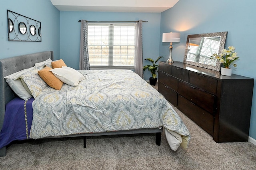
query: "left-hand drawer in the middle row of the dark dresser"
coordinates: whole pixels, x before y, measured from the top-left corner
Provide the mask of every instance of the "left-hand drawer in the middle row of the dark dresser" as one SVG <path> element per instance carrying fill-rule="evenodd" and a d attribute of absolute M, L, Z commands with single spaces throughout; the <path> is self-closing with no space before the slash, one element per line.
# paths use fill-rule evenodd
<path fill-rule="evenodd" d="M 158 82 L 164 83 L 174 91 L 178 91 L 178 79 L 162 71 L 158 72 Z"/>

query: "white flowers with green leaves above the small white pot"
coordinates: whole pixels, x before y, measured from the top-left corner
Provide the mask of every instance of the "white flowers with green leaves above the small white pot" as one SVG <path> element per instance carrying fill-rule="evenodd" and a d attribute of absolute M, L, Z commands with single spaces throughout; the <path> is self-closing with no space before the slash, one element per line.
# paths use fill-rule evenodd
<path fill-rule="evenodd" d="M 217 55 L 217 53 L 212 54 L 212 57 L 215 57 L 220 63 L 223 63 L 225 68 L 229 68 L 229 65 L 239 58 L 233 46 L 229 46 L 228 50 L 222 49 L 219 55 Z M 233 65 L 234 67 L 237 66 L 235 63 L 233 63 Z"/>

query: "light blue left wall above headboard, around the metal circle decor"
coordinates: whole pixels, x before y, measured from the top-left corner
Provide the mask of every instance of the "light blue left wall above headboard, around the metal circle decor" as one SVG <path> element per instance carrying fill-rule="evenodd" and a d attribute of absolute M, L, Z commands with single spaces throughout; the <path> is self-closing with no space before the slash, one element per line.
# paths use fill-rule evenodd
<path fill-rule="evenodd" d="M 42 42 L 8 41 L 7 10 L 41 22 Z M 60 11 L 50 0 L 0 0 L 0 59 L 40 51 L 60 58 Z"/>

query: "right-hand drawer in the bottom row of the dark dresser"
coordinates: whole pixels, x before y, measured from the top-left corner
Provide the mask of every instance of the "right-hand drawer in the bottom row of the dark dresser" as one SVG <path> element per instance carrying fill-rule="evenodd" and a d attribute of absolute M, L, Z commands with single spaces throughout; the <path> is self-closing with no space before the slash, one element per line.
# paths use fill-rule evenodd
<path fill-rule="evenodd" d="M 184 97 L 178 95 L 177 108 L 187 115 L 198 126 L 203 128 L 210 135 L 213 135 L 214 116 L 206 112 L 204 109 L 194 105 Z"/>

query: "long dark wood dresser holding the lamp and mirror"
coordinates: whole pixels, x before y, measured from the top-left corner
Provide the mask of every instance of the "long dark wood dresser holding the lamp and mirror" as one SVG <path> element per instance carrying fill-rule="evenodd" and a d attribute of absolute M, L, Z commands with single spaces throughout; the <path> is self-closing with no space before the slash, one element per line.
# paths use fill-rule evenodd
<path fill-rule="evenodd" d="M 253 85 L 249 77 L 159 62 L 158 91 L 215 142 L 248 141 Z"/>

